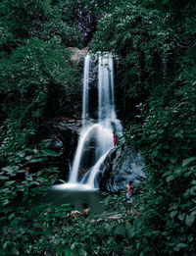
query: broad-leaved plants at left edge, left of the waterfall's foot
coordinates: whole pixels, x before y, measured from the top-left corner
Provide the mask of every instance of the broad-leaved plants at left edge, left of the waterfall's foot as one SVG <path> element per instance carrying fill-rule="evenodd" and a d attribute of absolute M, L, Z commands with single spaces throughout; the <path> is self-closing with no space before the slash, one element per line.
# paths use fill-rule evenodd
<path fill-rule="evenodd" d="M 49 149 L 25 148 L 9 155 L 9 166 L 3 167 L 0 173 L 3 207 L 12 204 L 21 192 L 23 202 L 30 201 L 32 197 L 42 194 L 55 182 L 55 174 L 59 171 L 54 167 L 43 168 L 38 172 L 33 172 L 32 167 L 30 174 L 25 177 L 25 167 L 34 163 L 42 164 L 49 156 L 55 157 L 58 154 Z M 7 211 L 6 209 L 5 212 Z"/>

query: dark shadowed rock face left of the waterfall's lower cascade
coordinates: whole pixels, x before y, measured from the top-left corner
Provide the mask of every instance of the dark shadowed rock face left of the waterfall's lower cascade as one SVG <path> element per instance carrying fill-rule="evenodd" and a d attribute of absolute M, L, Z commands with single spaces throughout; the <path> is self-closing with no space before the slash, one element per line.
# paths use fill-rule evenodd
<path fill-rule="evenodd" d="M 80 120 L 59 118 L 43 121 L 36 133 L 36 143 L 49 139 L 50 149 L 59 153 L 59 157 L 49 158 L 47 166 L 58 167 L 61 170 L 60 179 L 68 179 L 80 127 Z"/>

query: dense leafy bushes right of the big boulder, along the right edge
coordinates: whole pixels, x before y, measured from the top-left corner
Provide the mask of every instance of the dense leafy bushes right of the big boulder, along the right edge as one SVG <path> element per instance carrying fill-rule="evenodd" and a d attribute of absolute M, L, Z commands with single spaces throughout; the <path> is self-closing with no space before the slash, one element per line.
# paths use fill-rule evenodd
<path fill-rule="evenodd" d="M 150 231 L 148 244 L 163 255 L 195 251 L 195 95 L 195 87 L 186 84 L 164 109 L 151 99 L 149 111 L 141 110 L 144 123 L 125 132 L 141 150 L 148 176 L 138 200 L 146 220 L 140 236 Z"/>

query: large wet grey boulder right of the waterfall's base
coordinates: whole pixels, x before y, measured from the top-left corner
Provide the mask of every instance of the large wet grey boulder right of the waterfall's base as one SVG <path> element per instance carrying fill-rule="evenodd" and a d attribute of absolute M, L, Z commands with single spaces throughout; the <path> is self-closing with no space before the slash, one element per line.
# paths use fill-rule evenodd
<path fill-rule="evenodd" d="M 117 192 L 123 190 L 129 180 L 136 185 L 139 180 L 145 178 L 143 167 L 140 154 L 133 148 L 123 145 L 121 148 L 112 149 L 100 168 L 100 189 Z"/>

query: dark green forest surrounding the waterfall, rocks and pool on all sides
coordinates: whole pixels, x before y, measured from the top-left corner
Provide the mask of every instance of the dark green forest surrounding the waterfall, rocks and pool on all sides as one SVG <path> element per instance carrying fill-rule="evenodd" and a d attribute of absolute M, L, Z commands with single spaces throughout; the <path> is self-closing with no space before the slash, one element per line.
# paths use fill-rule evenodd
<path fill-rule="evenodd" d="M 1 255 L 196 255 L 195 1 L 2 0 L 0 16 Z M 118 56 L 124 138 L 147 174 L 140 217 L 69 226 L 69 206 L 50 206 L 37 210 L 44 229 L 30 230 L 30 212 L 13 204 L 30 203 L 59 172 L 23 180 L 27 165 L 57 155 L 33 136 L 43 119 L 79 118 L 82 65 L 69 47 L 86 46 Z M 109 198 L 123 211 L 123 195 Z"/>

